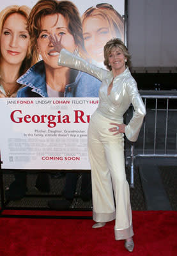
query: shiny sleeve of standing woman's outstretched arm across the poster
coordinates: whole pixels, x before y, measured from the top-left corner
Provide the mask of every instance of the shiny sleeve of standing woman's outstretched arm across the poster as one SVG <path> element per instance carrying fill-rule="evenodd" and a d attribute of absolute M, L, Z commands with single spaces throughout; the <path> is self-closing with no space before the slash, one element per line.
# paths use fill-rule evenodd
<path fill-rule="evenodd" d="M 109 73 L 109 71 L 88 63 L 81 57 L 75 56 L 71 52 L 66 51 L 66 49 L 62 49 L 59 53 L 58 65 L 81 70 L 90 74 L 91 76 L 96 77 L 100 81 L 102 81 Z"/>

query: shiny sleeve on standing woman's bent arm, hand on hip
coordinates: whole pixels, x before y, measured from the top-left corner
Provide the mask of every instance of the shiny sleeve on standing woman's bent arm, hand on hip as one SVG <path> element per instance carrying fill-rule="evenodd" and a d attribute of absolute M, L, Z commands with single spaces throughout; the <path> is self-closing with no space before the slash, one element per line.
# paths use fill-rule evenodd
<path fill-rule="evenodd" d="M 137 84 L 134 80 L 127 83 L 126 92 L 134 107 L 134 114 L 128 125 L 125 127 L 125 135 L 127 136 L 128 140 L 136 141 L 141 129 L 143 118 L 146 115 L 146 109 L 137 90 Z"/>

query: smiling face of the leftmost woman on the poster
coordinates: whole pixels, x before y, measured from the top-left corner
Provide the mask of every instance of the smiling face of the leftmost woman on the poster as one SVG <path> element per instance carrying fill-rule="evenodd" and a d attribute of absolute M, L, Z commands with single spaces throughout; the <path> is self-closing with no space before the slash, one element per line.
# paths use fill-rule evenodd
<path fill-rule="evenodd" d="M 4 22 L 0 38 L 1 62 L 22 64 L 29 45 L 29 34 L 26 30 L 26 18 L 13 13 Z"/>

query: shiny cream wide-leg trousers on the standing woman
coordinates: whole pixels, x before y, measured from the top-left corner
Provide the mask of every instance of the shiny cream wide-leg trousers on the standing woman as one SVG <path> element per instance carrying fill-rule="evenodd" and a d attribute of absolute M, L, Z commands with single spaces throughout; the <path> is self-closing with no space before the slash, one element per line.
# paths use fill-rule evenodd
<path fill-rule="evenodd" d="M 107 222 L 115 219 L 115 239 L 120 240 L 132 237 L 134 232 L 125 173 L 124 134 L 112 135 L 109 132 L 111 122 L 96 110 L 88 127 L 93 220 Z"/>

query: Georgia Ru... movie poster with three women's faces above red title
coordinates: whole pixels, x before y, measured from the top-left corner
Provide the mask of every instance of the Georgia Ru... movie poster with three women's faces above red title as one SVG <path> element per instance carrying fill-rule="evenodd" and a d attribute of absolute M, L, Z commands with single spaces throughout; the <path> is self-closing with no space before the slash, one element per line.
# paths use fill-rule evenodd
<path fill-rule="evenodd" d="M 87 129 L 101 82 L 60 67 L 49 36 L 61 38 L 68 52 L 106 69 L 105 43 L 125 38 L 125 1 L 58 1 L 58 7 L 50 2 L 1 3 L 2 168 L 90 169 Z M 22 5 L 16 16 L 14 4 Z"/>

